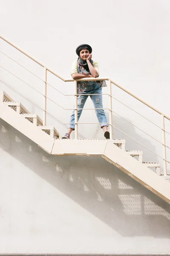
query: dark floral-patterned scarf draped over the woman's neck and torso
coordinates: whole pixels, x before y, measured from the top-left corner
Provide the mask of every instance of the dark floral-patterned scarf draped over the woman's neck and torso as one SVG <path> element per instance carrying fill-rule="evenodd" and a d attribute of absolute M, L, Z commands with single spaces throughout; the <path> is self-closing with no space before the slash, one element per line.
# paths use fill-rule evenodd
<path fill-rule="evenodd" d="M 90 60 L 90 63 L 93 65 L 93 61 Z M 86 61 L 83 61 L 81 58 L 77 59 L 77 69 L 79 74 L 83 75 L 91 75 L 90 70 L 88 68 L 88 64 Z M 88 71 L 89 70 L 89 71 Z M 106 82 L 105 81 L 90 81 L 90 83 L 98 84 L 99 87 L 106 87 Z M 88 86 L 89 82 L 88 81 L 78 81 L 77 82 L 77 94 L 82 94 L 86 87 Z"/>

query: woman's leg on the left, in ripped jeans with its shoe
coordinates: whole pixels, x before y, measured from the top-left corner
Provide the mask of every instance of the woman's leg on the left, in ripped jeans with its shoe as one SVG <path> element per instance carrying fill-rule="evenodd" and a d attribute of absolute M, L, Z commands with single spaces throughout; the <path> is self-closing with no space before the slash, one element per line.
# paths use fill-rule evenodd
<path fill-rule="evenodd" d="M 83 94 L 79 95 L 77 98 L 77 119 L 78 120 L 81 116 L 81 113 L 82 113 L 82 110 L 84 108 L 87 98 L 88 98 L 88 95 L 83 95 Z M 75 128 L 74 122 L 75 121 L 74 121 L 74 111 L 73 111 L 73 113 L 71 114 L 71 117 L 70 117 L 70 124 L 68 125 L 67 133 L 65 134 L 64 137 L 62 137 L 62 139 L 70 138 L 70 134 L 72 131 L 74 131 L 74 128 Z"/>

